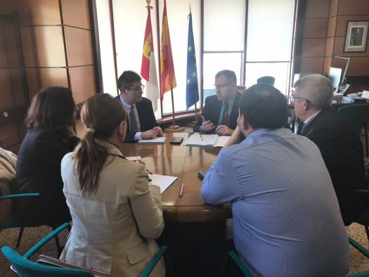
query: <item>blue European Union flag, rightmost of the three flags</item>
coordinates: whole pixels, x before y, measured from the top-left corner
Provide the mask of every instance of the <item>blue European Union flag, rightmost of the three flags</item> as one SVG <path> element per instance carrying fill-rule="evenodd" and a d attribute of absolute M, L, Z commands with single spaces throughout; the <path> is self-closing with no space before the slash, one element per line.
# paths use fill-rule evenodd
<path fill-rule="evenodd" d="M 193 42 L 192 13 L 188 15 L 188 44 L 187 44 L 187 79 L 186 79 L 186 107 L 195 105 L 199 101 L 198 70 L 196 67 L 195 44 Z"/>

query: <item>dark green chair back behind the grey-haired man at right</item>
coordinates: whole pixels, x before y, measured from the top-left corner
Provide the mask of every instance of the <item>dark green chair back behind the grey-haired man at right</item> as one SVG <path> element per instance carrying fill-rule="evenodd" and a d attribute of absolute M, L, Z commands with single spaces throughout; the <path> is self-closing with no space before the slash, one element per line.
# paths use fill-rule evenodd
<path fill-rule="evenodd" d="M 366 104 L 353 104 L 341 107 L 337 110 L 339 115 L 342 115 L 347 122 L 354 128 L 354 131 L 358 136 L 361 134 L 361 128 L 365 124 L 365 148 L 366 157 L 368 157 L 368 118 L 369 118 L 369 105 Z"/>

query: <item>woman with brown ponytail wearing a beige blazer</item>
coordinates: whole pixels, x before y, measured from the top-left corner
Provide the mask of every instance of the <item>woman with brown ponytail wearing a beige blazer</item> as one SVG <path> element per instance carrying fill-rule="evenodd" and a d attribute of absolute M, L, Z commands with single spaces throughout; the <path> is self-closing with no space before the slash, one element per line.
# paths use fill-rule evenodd
<path fill-rule="evenodd" d="M 164 228 L 160 188 L 119 150 L 126 117 L 109 94 L 89 98 L 81 112 L 86 135 L 61 164 L 73 226 L 60 258 L 113 276 L 139 276 Z M 164 275 L 160 261 L 150 276 Z"/>

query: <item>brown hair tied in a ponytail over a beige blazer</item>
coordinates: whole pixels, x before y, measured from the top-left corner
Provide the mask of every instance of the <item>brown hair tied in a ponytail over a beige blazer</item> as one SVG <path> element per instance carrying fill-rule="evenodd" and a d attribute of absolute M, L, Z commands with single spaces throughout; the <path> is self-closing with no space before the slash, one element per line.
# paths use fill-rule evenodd
<path fill-rule="evenodd" d="M 126 112 L 110 94 L 96 94 L 84 103 L 81 118 L 90 129 L 80 141 L 74 157 L 81 195 L 84 195 L 85 192 L 96 192 L 98 176 L 108 157 L 107 150 L 96 143 L 96 139 L 109 139 L 119 124 L 126 120 Z"/>

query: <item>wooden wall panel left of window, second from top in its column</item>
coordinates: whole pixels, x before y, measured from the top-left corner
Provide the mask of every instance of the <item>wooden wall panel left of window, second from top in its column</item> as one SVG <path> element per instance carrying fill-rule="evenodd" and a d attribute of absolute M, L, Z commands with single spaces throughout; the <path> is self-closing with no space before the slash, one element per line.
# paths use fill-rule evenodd
<path fill-rule="evenodd" d="M 92 65 L 92 37 L 89 30 L 65 27 L 65 43 L 69 66 Z"/>

